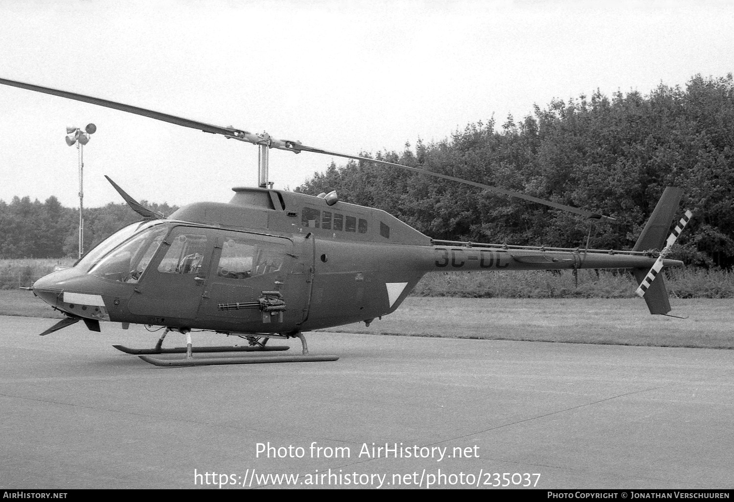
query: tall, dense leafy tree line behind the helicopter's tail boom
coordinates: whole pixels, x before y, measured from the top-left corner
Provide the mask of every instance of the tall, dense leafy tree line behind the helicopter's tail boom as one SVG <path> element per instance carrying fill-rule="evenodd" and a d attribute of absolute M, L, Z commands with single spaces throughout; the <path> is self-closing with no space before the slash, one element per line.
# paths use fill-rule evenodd
<path fill-rule="evenodd" d="M 734 265 L 734 82 L 694 76 L 685 87 L 649 94 L 597 90 L 555 99 L 497 125 L 471 123 L 426 145 L 421 139 L 384 159 L 523 192 L 617 218 L 574 214 L 427 175 L 365 161 L 332 163 L 296 192 L 335 189 L 340 200 L 394 214 L 435 239 L 628 250 L 666 186 L 684 190 L 694 218 L 677 258 Z"/>

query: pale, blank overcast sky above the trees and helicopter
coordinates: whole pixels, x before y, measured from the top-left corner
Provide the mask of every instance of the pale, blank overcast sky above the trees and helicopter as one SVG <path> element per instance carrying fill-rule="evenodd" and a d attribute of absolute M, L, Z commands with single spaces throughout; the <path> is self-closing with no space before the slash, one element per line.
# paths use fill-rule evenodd
<path fill-rule="evenodd" d="M 0 1 L 0 77 L 358 154 L 440 142 L 591 95 L 734 62 L 729 1 Z M 147 117 L 0 86 L 0 200 L 79 206 L 227 202 L 257 186 L 258 148 Z M 294 189 L 334 160 L 270 151 Z M 443 181 L 437 181 L 437 183 Z"/>

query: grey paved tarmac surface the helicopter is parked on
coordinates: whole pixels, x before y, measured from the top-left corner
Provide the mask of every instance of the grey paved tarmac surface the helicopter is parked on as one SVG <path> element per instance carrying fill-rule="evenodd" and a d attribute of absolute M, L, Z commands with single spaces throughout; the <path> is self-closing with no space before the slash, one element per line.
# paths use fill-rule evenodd
<path fill-rule="evenodd" d="M 54 322 L 0 317 L 0 488 L 734 487 L 728 350 L 315 332 L 338 361 L 159 368 L 112 348 L 158 333 Z"/>

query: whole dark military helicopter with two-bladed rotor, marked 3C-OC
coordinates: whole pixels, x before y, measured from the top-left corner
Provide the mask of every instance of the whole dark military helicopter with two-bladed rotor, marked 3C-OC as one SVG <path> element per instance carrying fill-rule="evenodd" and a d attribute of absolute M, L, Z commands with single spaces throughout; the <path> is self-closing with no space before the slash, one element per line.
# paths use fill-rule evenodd
<path fill-rule="evenodd" d="M 587 218 L 613 218 L 417 167 L 275 139 L 266 133 L 253 134 L 18 81 L 0 79 L 0 84 L 200 129 L 259 148 L 257 188 L 234 188 L 229 203 L 192 203 L 168 217 L 143 207 L 107 178 L 142 221 L 109 236 L 72 268 L 32 285 L 35 295 L 65 315 L 40 335 L 78 321 L 92 331 L 101 330 L 100 321 L 119 322 L 124 329 L 129 324 L 157 326 L 164 331 L 152 349 L 115 347 L 161 366 L 336 360 L 332 355 L 308 354 L 302 332 L 358 321 L 369 325 L 396 310 L 426 272 L 461 270 L 632 269 L 640 283 L 637 293 L 650 313 L 669 315 L 671 310 L 664 277 L 658 272 L 665 266 L 683 265 L 665 258 L 691 218 L 686 211 L 666 239 L 681 189 L 665 189 L 631 251 L 441 241 L 385 211 L 341 202 L 335 192 L 313 197 L 274 189 L 268 181 L 269 150 L 371 161 Z M 248 344 L 195 348 L 192 330 L 236 335 Z M 162 343 L 169 332 L 186 335 L 186 347 L 164 349 Z M 288 349 L 266 345 L 269 338 L 299 338 L 302 354 L 193 357 L 195 352 Z M 171 352 L 186 352 L 186 357 L 150 357 Z"/>

